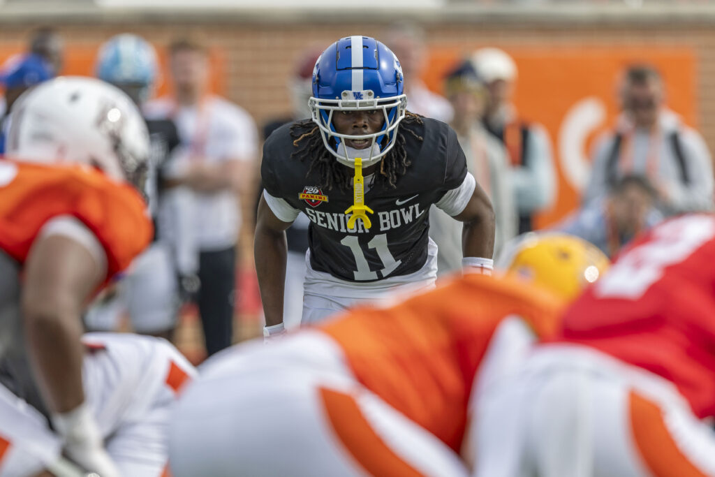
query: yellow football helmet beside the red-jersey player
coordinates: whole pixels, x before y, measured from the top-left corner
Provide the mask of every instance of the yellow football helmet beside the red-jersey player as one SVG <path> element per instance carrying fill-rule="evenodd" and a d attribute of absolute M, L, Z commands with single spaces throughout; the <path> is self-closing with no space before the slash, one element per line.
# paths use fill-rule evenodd
<path fill-rule="evenodd" d="M 608 257 L 591 242 L 560 232 L 520 235 L 507 243 L 496 264 L 502 272 L 546 287 L 568 301 L 610 266 Z"/>

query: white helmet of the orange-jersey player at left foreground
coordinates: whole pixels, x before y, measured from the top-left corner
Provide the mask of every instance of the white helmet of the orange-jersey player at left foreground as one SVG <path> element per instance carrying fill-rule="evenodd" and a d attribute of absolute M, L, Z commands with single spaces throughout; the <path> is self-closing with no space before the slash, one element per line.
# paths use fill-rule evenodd
<path fill-rule="evenodd" d="M 24 93 L 10 120 L 7 157 L 87 164 L 142 190 L 149 134 L 142 114 L 117 87 L 89 77 L 58 77 Z"/>

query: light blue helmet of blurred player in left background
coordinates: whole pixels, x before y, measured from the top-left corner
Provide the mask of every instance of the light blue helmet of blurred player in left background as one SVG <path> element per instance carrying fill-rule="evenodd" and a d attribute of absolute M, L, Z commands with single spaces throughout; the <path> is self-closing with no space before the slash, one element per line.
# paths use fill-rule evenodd
<path fill-rule="evenodd" d="M 149 99 L 157 80 L 157 64 L 157 52 L 151 44 L 125 33 L 112 36 L 99 48 L 96 74 L 99 79 L 124 89 L 141 104 Z"/>

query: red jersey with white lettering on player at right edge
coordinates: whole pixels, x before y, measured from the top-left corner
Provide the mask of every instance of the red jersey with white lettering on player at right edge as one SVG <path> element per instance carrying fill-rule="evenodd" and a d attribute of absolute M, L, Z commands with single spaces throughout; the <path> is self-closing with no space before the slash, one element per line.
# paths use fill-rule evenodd
<path fill-rule="evenodd" d="M 684 215 L 628 247 L 568 309 L 559 341 L 670 380 L 715 415 L 715 215 Z"/>

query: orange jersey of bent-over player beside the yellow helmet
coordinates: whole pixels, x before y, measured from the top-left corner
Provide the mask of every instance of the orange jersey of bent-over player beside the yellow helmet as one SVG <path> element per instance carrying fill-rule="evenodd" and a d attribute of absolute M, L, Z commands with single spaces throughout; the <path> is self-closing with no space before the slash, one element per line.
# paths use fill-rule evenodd
<path fill-rule="evenodd" d="M 501 320 L 518 315 L 551 337 L 562 308 L 516 278 L 468 275 L 320 329 L 340 343 L 360 383 L 459 452 L 473 381 Z"/>

